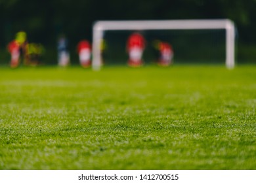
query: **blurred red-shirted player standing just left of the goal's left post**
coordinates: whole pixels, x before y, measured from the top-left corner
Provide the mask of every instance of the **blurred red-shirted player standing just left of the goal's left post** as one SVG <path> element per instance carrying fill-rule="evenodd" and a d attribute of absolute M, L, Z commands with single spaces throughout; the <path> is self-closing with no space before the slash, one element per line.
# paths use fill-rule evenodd
<path fill-rule="evenodd" d="M 82 40 L 77 45 L 79 62 L 82 67 L 91 66 L 91 44 L 87 40 Z"/>

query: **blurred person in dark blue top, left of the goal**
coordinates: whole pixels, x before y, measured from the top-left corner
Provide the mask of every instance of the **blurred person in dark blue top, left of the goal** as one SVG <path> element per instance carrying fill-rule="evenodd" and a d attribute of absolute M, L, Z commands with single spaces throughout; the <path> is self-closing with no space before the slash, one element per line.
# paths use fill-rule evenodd
<path fill-rule="evenodd" d="M 58 39 L 58 65 L 66 67 L 70 64 L 70 53 L 68 52 L 68 40 L 64 35 Z"/>

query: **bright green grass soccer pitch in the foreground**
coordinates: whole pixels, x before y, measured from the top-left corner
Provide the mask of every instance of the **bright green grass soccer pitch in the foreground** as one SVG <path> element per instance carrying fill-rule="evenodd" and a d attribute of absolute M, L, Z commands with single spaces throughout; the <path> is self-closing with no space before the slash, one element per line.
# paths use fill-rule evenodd
<path fill-rule="evenodd" d="M 0 169 L 256 169 L 256 67 L 0 68 Z"/>

